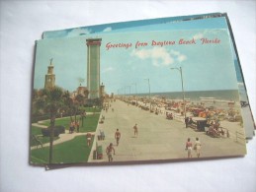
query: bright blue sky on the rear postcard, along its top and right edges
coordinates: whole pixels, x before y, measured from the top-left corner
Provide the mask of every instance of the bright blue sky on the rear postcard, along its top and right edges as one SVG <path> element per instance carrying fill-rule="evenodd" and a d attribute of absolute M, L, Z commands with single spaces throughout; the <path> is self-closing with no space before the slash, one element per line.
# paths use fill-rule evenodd
<path fill-rule="evenodd" d="M 225 17 L 205 18 L 204 20 L 188 20 L 192 18 L 202 18 L 202 16 L 215 15 L 204 14 L 194 16 L 180 16 L 169 18 L 158 18 L 150 20 L 130 21 L 123 23 L 104 24 L 98 26 L 80 27 L 74 29 L 43 32 L 43 38 L 56 37 L 73 37 L 85 35 L 88 33 L 113 33 L 113 32 L 145 32 L 145 31 L 177 31 L 177 30 L 199 30 L 199 29 L 226 29 L 228 25 Z M 183 21 L 183 22 L 180 22 Z M 241 78 L 241 70 L 236 58 L 234 48 L 232 46 L 234 65 L 236 69 L 237 82 L 239 87 L 244 87 L 243 79 Z"/>

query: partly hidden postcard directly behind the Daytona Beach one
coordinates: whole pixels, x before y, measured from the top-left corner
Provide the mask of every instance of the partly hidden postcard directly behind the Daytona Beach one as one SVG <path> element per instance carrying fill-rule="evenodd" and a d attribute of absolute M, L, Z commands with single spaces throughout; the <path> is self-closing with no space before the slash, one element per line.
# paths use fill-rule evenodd
<path fill-rule="evenodd" d="M 244 118 L 245 135 L 247 139 L 254 136 L 255 123 L 253 120 L 245 83 L 241 71 L 238 53 L 235 47 L 231 26 L 225 13 L 211 13 L 193 16 L 179 16 L 158 18 L 151 20 L 131 21 L 124 23 L 113 23 L 98 26 L 81 27 L 62 31 L 43 32 L 43 38 L 72 37 L 88 33 L 104 32 L 148 32 L 148 31 L 171 31 L 171 30 L 204 30 L 204 29 L 226 29 L 230 33 L 232 41 L 232 52 L 239 88 L 242 116 Z"/>

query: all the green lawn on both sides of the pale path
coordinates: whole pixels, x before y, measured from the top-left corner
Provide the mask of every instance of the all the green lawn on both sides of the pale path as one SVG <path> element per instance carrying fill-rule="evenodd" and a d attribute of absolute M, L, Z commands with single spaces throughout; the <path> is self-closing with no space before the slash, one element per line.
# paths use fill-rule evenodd
<path fill-rule="evenodd" d="M 100 114 L 87 115 L 84 119 L 84 126 L 80 122 L 80 132 L 95 132 Z M 63 125 L 66 130 L 69 130 L 69 117 L 56 119 L 55 125 Z M 49 126 L 49 120 L 43 123 Z M 40 129 L 40 128 L 39 128 Z M 32 134 L 42 134 L 37 127 L 32 127 Z M 94 139 L 94 138 L 93 138 Z M 93 143 L 92 139 L 92 143 Z M 89 158 L 91 146 L 87 146 L 86 136 L 77 136 L 71 141 L 67 141 L 53 146 L 53 160 L 52 163 L 72 163 L 72 162 L 86 162 Z M 47 163 L 49 148 L 39 148 L 31 151 L 32 163 Z"/>

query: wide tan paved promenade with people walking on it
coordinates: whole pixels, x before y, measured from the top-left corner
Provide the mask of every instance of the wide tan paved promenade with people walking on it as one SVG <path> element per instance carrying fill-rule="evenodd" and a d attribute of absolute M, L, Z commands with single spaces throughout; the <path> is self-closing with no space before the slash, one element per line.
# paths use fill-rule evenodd
<path fill-rule="evenodd" d="M 235 142 L 235 131 L 242 132 L 242 128 L 237 123 L 221 122 L 223 127 L 229 129 L 231 138 L 212 138 L 205 132 L 185 128 L 181 121 L 167 120 L 164 114 L 155 115 L 121 100 L 111 104 L 114 112 L 112 110 L 102 111 L 102 115 L 105 115 L 105 122 L 98 125 L 95 133 L 99 135 L 102 130 L 106 138 L 104 141 L 97 141 L 97 136 L 95 137 L 88 160 L 90 162 L 108 161 L 105 150 L 110 143 L 115 144 L 114 161 L 186 159 L 185 143 L 188 137 L 192 139 L 192 142 L 195 142 L 196 137 L 200 138 L 204 158 L 245 154 L 244 142 Z M 134 137 L 132 129 L 135 123 L 138 125 L 137 137 Z M 115 141 L 117 128 L 122 133 L 119 146 L 116 146 Z M 93 160 L 96 142 L 103 146 L 103 160 Z M 195 152 L 193 153 L 196 157 Z"/>

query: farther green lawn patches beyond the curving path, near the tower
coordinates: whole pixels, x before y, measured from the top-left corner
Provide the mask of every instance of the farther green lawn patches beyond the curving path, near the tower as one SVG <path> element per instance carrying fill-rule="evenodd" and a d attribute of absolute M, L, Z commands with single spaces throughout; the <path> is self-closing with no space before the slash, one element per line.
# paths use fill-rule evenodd
<path fill-rule="evenodd" d="M 90 114 L 87 115 L 86 118 L 84 118 L 84 123 L 82 126 L 82 122 L 80 122 L 80 131 L 81 133 L 84 132 L 94 132 L 97 128 L 97 124 L 100 118 L 99 113 Z M 77 119 L 80 119 L 79 115 L 77 116 Z M 70 124 L 70 118 L 69 117 L 63 117 L 61 119 L 55 120 L 55 125 L 62 125 L 65 127 L 66 130 L 69 130 L 69 124 Z M 43 125 L 49 126 L 49 120 L 46 120 L 43 122 Z"/>

